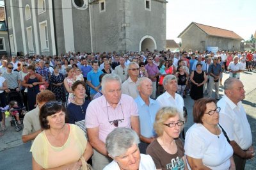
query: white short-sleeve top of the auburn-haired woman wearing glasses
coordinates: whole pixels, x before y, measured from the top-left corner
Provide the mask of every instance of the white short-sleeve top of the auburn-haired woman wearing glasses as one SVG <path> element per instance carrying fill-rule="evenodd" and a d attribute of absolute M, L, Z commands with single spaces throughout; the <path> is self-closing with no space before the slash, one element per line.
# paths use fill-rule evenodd
<path fill-rule="evenodd" d="M 202 158 L 202 162 L 210 169 L 228 169 L 232 146 L 227 142 L 223 132 L 215 135 L 209 132 L 201 123 L 192 125 L 185 138 L 185 155 L 192 158 Z M 190 169 L 189 165 L 188 168 Z"/>

